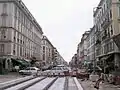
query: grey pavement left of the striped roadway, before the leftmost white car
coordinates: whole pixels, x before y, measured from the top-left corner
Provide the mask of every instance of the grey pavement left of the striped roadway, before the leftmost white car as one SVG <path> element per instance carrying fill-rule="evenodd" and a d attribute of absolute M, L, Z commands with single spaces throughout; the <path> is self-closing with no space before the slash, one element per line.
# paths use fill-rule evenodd
<path fill-rule="evenodd" d="M 10 80 L 14 80 L 14 79 L 18 79 L 18 78 L 21 78 L 21 77 L 23 77 L 23 76 L 19 75 L 19 73 L 10 72 L 9 74 L 6 74 L 6 75 L 0 75 L 0 83 L 10 81 Z"/>

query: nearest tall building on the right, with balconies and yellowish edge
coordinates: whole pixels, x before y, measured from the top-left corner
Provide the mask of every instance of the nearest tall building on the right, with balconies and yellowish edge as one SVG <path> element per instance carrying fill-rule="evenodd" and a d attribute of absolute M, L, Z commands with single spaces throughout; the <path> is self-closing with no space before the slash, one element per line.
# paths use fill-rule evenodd
<path fill-rule="evenodd" d="M 101 0 L 94 11 L 96 57 L 101 67 L 120 67 L 120 51 L 113 36 L 120 33 L 120 0 Z M 114 67 L 113 67 L 114 66 Z"/>

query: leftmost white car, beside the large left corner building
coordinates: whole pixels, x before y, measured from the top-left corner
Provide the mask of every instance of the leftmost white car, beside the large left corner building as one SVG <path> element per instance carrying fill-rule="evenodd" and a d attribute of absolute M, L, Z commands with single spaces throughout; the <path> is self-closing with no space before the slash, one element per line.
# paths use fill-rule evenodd
<path fill-rule="evenodd" d="M 39 68 L 37 67 L 27 67 L 24 70 L 20 70 L 19 74 L 21 75 L 37 75 L 39 71 Z"/>

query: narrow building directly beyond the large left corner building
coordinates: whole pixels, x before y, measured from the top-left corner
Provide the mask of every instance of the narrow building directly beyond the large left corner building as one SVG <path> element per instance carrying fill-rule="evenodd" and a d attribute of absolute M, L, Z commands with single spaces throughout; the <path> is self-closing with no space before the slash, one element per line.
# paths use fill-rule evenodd
<path fill-rule="evenodd" d="M 48 66 L 53 64 L 54 46 L 46 36 L 42 38 L 42 65 Z"/>

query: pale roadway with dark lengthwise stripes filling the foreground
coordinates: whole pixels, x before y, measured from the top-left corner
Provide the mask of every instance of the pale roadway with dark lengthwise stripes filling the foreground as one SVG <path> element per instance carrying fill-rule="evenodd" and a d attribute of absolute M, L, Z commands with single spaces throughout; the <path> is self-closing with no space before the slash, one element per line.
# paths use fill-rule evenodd
<path fill-rule="evenodd" d="M 25 77 L 24 77 L 25 78 Z M 21 78 L 20 78 L 21 79 Z M 18 80 L 18 79 L 17 79 Z M 13 80 L 12 80 L 13 81 Z M 7 82 L 0 83 L 4 90 L 83 90 L 75 77 L 36 77 L 30 80 L 17 82 L 12 85 Z M 20 81 L 20 80 L 19 80 Z M 14 81 L 15 82 L 15 81 Z M 4 84 L 8 84 L 5 87 Z"/>

